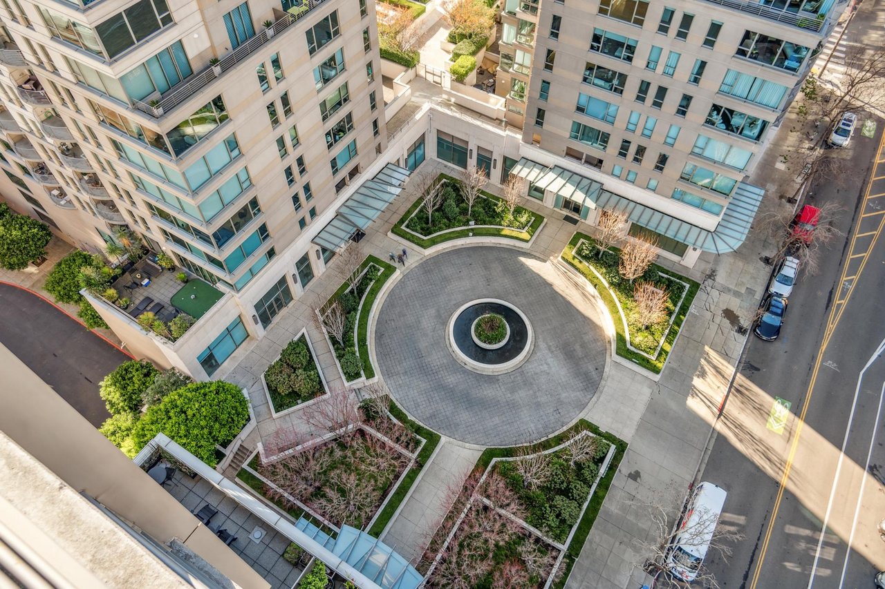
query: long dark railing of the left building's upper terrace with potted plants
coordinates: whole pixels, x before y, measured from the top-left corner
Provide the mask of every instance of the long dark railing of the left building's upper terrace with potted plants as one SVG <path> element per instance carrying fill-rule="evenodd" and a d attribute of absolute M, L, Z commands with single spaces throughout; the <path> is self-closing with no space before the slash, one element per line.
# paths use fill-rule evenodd
<path fill-rule="evenodd" d="M 221 57 L 218 65 L 215 67 L 221 68 L 221 74 L 224 75 L 230 69 L 233 69 L 236 65 L 242 62 L 247 57 L 258 50 L 260 47 L 266 44 L 268 40 L 277 34 L 281 34 L 283 31 L 294 25 L 298 20 L 303 19 L 305 15 L 309 14 L 314 8 L 323 4 L 326 0 L 308 0 L 307 1 L 307 10 L 303 12 L 299 12 L 298 14 L 291 14 L 287 12 L 281 19 L 277 20 L 273 23 L 269 30 L 273 31 L 273 34 L 268 35 L 268 30 L 264 30 L 256 34 L 249 41 L 242 43 L 235 50 L 228 53 L 225 57 Z M 204 87 L 211 84 L 214 80 L 216 80 L 219 76 L 215 74 L 213 71 L 212 65 L 205 68 L 202 72 L 196 73 L 194 77 L 190 80 L 182 82 L 178 86 L 174 86 L 170 88 L 168 92 L 165 93 L 164 96 L 159 100 L 157 106 L 151 106 L 147 103 L 142 103 L 140 100 L 135 101 L 135 108 L 139 111 L 146 112 L 151 117 L 159 119 L 166 112 L 172 111 L 179 104 L 189 100 L 191 96 L 196 96 L 197 93 Z"/>

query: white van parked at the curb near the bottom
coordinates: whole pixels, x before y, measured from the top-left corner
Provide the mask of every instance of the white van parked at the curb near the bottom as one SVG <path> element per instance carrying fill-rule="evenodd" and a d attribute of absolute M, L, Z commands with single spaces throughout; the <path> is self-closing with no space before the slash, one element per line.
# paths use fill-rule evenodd
<path fill-rule="evenodd" d="M 667 563 L 670 570 L 685 581 L 693 581 L 704 562 L 713 531 L 719 523 L 726 492 L 712 483 L 701 483 L 695 488 L 681 523 L 673 533 Z"/>

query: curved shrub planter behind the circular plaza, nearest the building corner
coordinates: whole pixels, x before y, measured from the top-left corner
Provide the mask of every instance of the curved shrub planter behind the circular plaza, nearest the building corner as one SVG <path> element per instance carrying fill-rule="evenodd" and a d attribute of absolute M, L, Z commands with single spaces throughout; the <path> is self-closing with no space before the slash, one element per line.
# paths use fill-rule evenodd
<path fill-rule="evenodd" d="M 471 216 L 467 217 L 467 203 L 460 194 L 459 180 L 447 174 L 440 174 L 436 180 L 437 190 L 446 190 L 451 187 L 454 196 L 451 197 L 456 203 L 456 208 L 449 207 L 450 215 L 446 214 L 446 201 L 444 198 L 439 208 L 434 211 L 433 225 L 427 224 L 427 211 L 421 207 L 421 199 L 416 200 L 405 211 L 403 218 L 396 222 L 393 233 L 405 240 L 411 241 L 419 248 L 427 249 L 443 241 L 457 240 L 465 237 L 504 237 L 516 241 L 531 241 L 532 236 L 543 224 L 543 216 L 533 211 L 516 207 L 514 217 L 524 221 L 516 223 L 513 219 L 507 219 L 506 211 L 499 210 L 502 201 L 496 195 L 482 191 L 479 198 L 473 203 Z M 470 226 L 469 222 L 474 225 Z M 508 221 L 510 225 L 507 226 Z"/>

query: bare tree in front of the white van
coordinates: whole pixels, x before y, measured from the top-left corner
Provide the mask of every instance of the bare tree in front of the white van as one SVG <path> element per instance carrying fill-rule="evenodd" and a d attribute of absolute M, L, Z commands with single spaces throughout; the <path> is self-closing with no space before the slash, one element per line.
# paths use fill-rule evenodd
<path fill-rule="evenodd" d="M 656 576 L 655 587 L 661 589 L 684 589 L 685 582 L 680 578 L 673 577 L 670 572 L 668 558 L 677 543 L 682 546 L 700 545 L 706 543 L 706 533 L 711 527 L 714 527 L 712 540 L 707 548 L 707 555 L 704 559 L 709 561 L 712 557 L 718 556 L 723 562 L 727 562 L 732 554 L 732 545 L 743 539 L 743 534 L 737 532 L 734 528 L 719 523 L 719 516 L 705 509 L 698 507 L 695 509 L 695 517 L 683 521 L 678 529 L 676 522 L 679 514 L 672 509 L 673 504 L 681 504 L 679 500 L 668 501 L 673 499 L 667 496 L 668 493 L 653 493 L 658 499 L 654 502 L 639 502 L 637 507 L 647 511 L 648 519 L 651 520 L 649 527 L 650 534 L 647 539 L 635 539 L 635 545 L 642 555 L 643 562 L 635 562 L 635 566 L 641 566 L 650 574 Z M 662 502 L 663 501 L 663 502 Z M 720 587 L 712 572 L 706 568 L 704 562 L 701 562 L 700 568 L 697 570 L 697 578 L 693 585 L 710 587 L 718 589 Z"/>

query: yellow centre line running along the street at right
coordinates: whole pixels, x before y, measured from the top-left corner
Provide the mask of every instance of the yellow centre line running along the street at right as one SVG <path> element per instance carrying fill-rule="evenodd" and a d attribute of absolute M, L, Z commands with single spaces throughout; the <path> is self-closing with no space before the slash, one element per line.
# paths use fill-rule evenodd
<path fill-rule="evenodd" d="M 860 224 L 865 217 L 864 210 L 866 209 L 866 204 L 869 202 L 869 200 L 871 198 L 870 192 L 873 188 L 873 180 L 876 179 L 874 174 L 876 173 L 877 164 L 881 161 L 880 158 L 882 157 L 882 149 L 883 148 L 885 148 L 885 133 L 883 133 L 881 136 L 881 140 L 879 142 L 879 149 L 876 151 L 876 162 L 873 163 L 873 171 L 870 172 L 870 181 L 866 187 L 866 195 L 864 196 L 864 202 L 860 206 L 860 214 L 858 215 L 858 220 L 855 223 L 854 231 L 852 232 L 853 235 L 851 237 L 849 255 L 853 254 L 855 244 L 858 240 L 858 237 L 860 237 L 861 235 L 869 234 L 869 233 L 863 233 L 861 235 L 858 235 L 858 231 L 860 229 Z M 874 196 L 873 196 L 873 198 L 874 198 Z M 817 359 L 814 361 L 814 368 L 812 370 L 812 380 L 808 384 L 808 389 L 805 391 L 805 398 L 804 398 L 804 402 L 802 404 L 802 411 L 799 413 L 799 417 L 798 417 L 798 425 L 796 428 L 796 435 L 793 437 L 793 442 L 789 447 L 789 455 L 787 457 L 787 463 L 785 463 L 784 467 L 783 467 L 783 475 L 781 476 L 781 482 L 778 485 L 778 492 L 777 492 L 777 497 L 774 500 L 774 507 L 772 509 L 772 515 L 771 515 L 770 519 L 768 520 L 768 529 L 766 530 L 766 536 L 765 536 L 765 539 L 763 539 L 763 541 L 762 541 L 762 548 L 759 551 L 759 560 L 756 565 L 756 570 L 753 572 L 753 578 L 750 580 L 750 589 L 756 588 L 756 585 L 758 584 L 758 580 L 759 580 L 759 574 L 762 572 L 762 564 L 766 560 L 766 552 L 768 550 L 768 543 L 772 537 L 772 532 L 774 530 L 774 522 L 777 519 L 778 509 L 781 508 L 781 501 L 783 500 L 783 493 L 787 488 L 787 480 L 789 479 L 789 472 L 790 472 L 790 470 L 792 470 L 793 460 L 794 460 L 794 458 L 796 458 L 796 452 L 797 452 L 797 448 L 799 446 L 799 438 L 802 436 L 802 430 L 805 425 L 805 414 L 808 411 L 808 406 L 812 402 L 812 393 L 814 390 L 814 385 L 818 379 L 818 371 L 820 371 L 820 363 L 823 360 L 824 351 L 826 351 L 827 345 L 829 344 L 829 340 L 833 336 L 833 333 L 835 332 L 836 325 L 839 324 L 839 320 L 843 316 L 843 310 L 845 309 L 845 307 L 848 306 L 848 300 L 851 296 L 851 293 L 854 291 L 854 286 L 856 284 L 858 284 L 858 279 L 860 278 L 860 274 L 862 272 L 864 272 L 864 268 L 866 267 L 866 260 L 869 259 L 869 254 L 870 254 L 870 252 L 873 251 L 873 245 L 875 244 L 876 241 L 878 241 L 883 226 L 885 226 L 885 217 L 882 218 L 882 221 L 880 222 L 878 228 L 876 229 L 875 232 L 873 232 L 874 233 L 873 241 L 870 243 L 869 248 L 866 249 L 866 252 L 863 254 L 864 259 L 861 260 L 861 262 L 860 262 L 860 267 L 858 268 L 858 272 L 856 272 L 854 274 L 854 277 L 853 277 L 854 279 L 851 282 L 848 292 L 841 299 L 839 298 L 839 293 L 836 293 L 835 301 L 833 302 L 833 306 L 830 308 L 829 317 L 827 318 L 827 329 L 824 333 L 823 340 L 820 342 L 820 348 L 818 350 Z M 853 256 L 851 256 L 851 257 L 853 257 Z M 848 261 L 846 260 L 845 264 L 843 265 L 842 275 L 839 278 L 839 283 L 837 285 L 837 288 L 839 288 L 839 289 L 842 288 L 842 285 L 844 284 L 845 279 L 847 278 L 848 272 L 849 272 L 849 264 L 848 264 Z M 821 532 L 821 533 L 823 533 L 823 532 Z"/>

